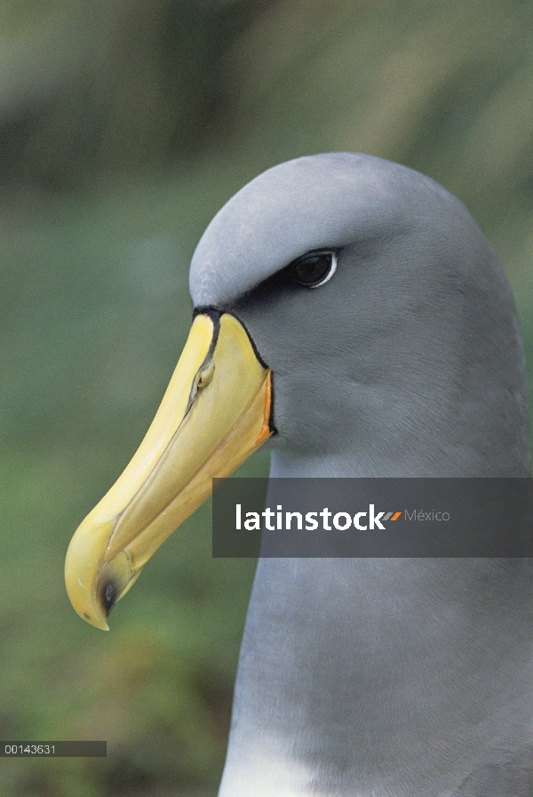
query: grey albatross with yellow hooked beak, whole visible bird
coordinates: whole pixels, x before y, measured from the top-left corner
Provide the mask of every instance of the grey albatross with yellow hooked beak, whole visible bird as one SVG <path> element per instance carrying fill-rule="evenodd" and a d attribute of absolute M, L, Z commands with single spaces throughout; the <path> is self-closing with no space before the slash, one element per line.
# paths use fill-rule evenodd
<path fill-rule="evenodd" d="M 155 420 L 68 548 L 96 627 L 263 445 L 272 477 L 529 476 L 503 270 L 422 174 L 275 166 L 211 221 L 190 292 Z M 533 793 L 532 586 L 524 559 L 260 559 L 219 797 Z"/>

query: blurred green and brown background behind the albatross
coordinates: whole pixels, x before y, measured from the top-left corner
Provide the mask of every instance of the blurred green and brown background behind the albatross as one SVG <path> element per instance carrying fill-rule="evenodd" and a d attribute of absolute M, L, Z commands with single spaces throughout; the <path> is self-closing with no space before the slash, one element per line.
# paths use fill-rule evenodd
<path fill-rule="evenodd" d="M 214 795 L 255 563 L 204 506 L 111 617 L 68 603 L 70 536 L 129 461 L 187 336 L 211 216 L 270 165 L 391 158 L 460 197 L 533 366 L 533 5 L 519 0 L 0 4 L 0 797 Z M 243 472 L 267 473 L 267 455 Z"/>

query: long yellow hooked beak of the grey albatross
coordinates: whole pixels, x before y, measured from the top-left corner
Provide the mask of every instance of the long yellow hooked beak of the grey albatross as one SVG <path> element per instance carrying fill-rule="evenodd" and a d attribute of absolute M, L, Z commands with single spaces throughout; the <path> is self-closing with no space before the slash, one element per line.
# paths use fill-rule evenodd
<path fill-rule="evenodd" d="M 159 546 L 273 433 L 272 372 L 228 313 L 197 315 L 155 419 L 76 530 L 65 581 L 79 616 L 107 616 Z"/>

